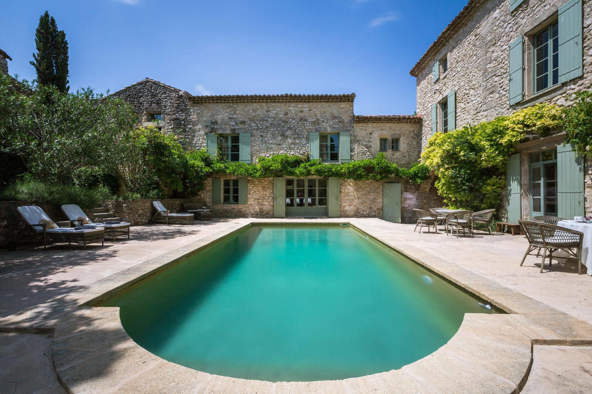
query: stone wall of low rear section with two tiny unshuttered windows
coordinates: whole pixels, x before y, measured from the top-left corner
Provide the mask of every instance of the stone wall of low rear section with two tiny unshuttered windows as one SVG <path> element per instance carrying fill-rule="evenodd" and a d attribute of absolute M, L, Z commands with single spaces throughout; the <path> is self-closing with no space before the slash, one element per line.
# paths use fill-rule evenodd
<path fill-rule="evenodd" d="M 353 159 L 372 159 L 381 150 L 380 138 L 388 138 L 387 150 L 384 154 L 387 160 L 397 163 L 402 167 L 410 167 L 416 163 L 422 152 L 421 122 L 398 122 L 398 121 L 355 121 L 353 125 L 356 131 L 356 143 L 352 149 L 355 152 Z M 391 150 L 392 138 L 399 138 L 399 150 Z"/>

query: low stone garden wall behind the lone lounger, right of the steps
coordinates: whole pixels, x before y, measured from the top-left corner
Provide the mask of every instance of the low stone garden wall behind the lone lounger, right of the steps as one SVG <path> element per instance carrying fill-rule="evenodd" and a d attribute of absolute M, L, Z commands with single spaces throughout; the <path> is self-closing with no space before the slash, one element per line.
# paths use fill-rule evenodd
<path fill-rule="evenodd" d="M 152 205 L 152 199 L 140 199 L 140 200 L 110 200 L 105 202 L 109 211 L 113 212 L 114 217 L 127 218 L 127 221 L 131 225 L 142 225 L 149 224 L 152 222 L 156 209 Z M 183 212 L 183 203 L 194 203 L 199 202 L 199 199 L 186 199 L 186 198 L 169 198 L 160 199 L 162 205 L 166 209 L 169 209 L 172 213 Z"/>

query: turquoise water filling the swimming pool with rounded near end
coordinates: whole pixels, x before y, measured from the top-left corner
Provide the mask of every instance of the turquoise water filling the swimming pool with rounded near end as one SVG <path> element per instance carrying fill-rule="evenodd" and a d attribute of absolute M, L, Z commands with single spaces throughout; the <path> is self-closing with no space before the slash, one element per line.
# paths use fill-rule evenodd
<path fill-rule="evenodd" d="M 480 300 L 350 227 L 253 226 L 109 299 L 131 338 L 224 376 L 344 379 L 445 344 Z"/>

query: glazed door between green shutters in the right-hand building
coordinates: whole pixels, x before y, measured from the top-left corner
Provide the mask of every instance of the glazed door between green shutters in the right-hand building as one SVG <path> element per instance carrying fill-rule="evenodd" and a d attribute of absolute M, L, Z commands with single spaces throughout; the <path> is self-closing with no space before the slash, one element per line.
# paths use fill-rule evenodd
<path fill-rule="evenodd" d="M 530 154 L 530 217 L 557 215 L 557 153 Z"/>

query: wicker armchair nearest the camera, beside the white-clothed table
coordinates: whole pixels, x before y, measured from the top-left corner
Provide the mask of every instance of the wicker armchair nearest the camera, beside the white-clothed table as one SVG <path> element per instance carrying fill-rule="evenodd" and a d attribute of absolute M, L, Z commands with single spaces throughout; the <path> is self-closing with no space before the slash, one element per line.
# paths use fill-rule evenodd
<path fill-rule="evenodd" d="M 526 234 L 526 239 L 529 243 L 526 253 L 524 254 L 524 257 L 522 257 L 522 261 L 520 261 L 520 266 L 524 264 L 526 256 L 530 254 L 531 256 L 538 257 L 539 251 L 544 250 L 543 260 L 540 263 L 540 272 L 543 272 L 547 253 L 549 253 L 549 266 L 551 266 L 553 253 L 558 250 L 563 250 L 570 256 L 570 258 L 578 260 L 578 274 L 581 274 L 582 243 L 584 241 L 583 232 L 529 220 L 519 220 L 518 223 L 522 228 L 523 234 Z M 535 250 L 537 250 L 536 255 L 532 254 Z"/>

